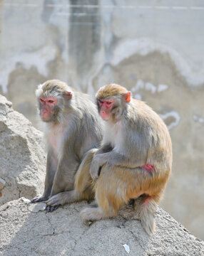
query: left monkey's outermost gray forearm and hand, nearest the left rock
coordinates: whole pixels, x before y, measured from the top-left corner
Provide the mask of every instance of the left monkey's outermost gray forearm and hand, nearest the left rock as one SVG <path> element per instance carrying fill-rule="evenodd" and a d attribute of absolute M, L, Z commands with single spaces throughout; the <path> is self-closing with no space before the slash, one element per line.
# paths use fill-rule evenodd
<path fill-rule="evenodd" d="M 53 185 L 53 178 L 55 176 L 57 169 L 57 159 L 56 156 L 53 154 L 53 151 L 50 150 L 47 155 L 47 163 L 46 163 L 46 180 L 45 180 L 45 188 L 44 188 L 44 194 L 37 195 L 31 200 L 31 203 L 46 201 L 50 194 L 51 194 L 51 188 Z"/>

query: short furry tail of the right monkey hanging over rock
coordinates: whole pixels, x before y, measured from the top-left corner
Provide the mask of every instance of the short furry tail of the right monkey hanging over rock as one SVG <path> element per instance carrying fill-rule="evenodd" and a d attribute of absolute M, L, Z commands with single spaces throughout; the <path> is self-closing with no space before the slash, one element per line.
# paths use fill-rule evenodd
<path fill-rule="evenodd" d="M 135 200 L 134 208 L 136 216 L 141 220 L 143 229 L 151 235 L 155 231 L 155 210 L 157 208 L 158 198 L 154 196 L 142 195 Z"/>

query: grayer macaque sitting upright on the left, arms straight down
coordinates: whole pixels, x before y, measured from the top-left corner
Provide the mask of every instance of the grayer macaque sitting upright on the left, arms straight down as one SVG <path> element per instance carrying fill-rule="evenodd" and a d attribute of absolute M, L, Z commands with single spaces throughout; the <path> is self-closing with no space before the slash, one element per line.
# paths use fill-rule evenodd
<path fill-rule="evenodd" d="M 73 90 L 65 82 L 44 82 L 36 90 L 36 97 L 45 124 L 48 154 L 44 194 L 31 202 L 46 201 L 47 210 L 53 211 L 68 201 L 67 192 L 73 191 L 76 171 L 86 153 L 100 145 L 102 120 L 88 95 Z M 89 161 L 93 153 L 87 154 Z M 86 161 L 83 164 L 86 166 Z M 88 198 L 93 197 L 94 193 L 88 193 Z"/>

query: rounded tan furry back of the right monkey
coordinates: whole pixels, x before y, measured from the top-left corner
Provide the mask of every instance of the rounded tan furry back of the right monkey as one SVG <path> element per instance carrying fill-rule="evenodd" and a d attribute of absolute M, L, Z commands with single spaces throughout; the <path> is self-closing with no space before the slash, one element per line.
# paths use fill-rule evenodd
<path fill-rule="evenodd" d="M 139 150 L 147 152 L 147 162 L 156 169 L 170 172 L 172 166 L 172 144 L 170 134 L 160 116 L 141 100 L 131 100 L 128 107 L 128 125 L 138 134 L 135 142 Z"/>

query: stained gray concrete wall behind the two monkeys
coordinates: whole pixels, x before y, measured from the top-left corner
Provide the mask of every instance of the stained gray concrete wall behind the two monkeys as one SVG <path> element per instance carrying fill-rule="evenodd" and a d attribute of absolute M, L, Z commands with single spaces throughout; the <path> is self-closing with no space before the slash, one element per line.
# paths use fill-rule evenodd
<path fill-rule="evenodd" d="M 161 205 L 204 239 L 204 2 L 1 0 L 0 92 L 36 125 L 36 85 L 117 82 L 163 117 L 173 174 Z"/>

